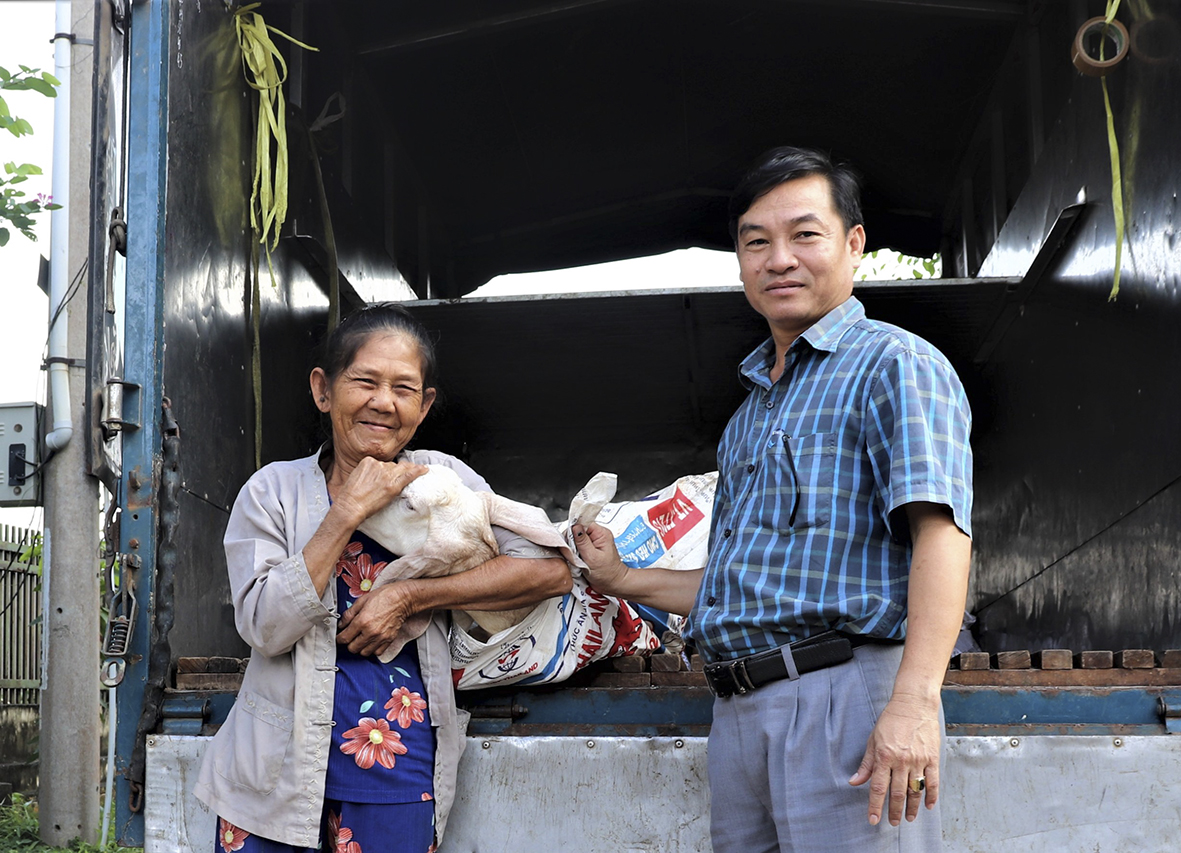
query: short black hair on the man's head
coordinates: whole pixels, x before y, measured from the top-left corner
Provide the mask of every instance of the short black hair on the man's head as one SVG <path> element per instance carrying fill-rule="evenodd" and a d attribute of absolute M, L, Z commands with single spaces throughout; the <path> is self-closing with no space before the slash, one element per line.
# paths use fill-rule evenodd
<path fill-rule="evenodd" d="M 828 180 L 833 207 L 841 215 L 844 229 L 863 224 L 861 217 L 861 180 L 848 163 L 833 161 L 811 148 L 781 145 L 763 154 L 743 175 L 730 196 L 730 236 L 738 242 L 738 219 L 750 206 L 787 181 L 820 175 Z"/>

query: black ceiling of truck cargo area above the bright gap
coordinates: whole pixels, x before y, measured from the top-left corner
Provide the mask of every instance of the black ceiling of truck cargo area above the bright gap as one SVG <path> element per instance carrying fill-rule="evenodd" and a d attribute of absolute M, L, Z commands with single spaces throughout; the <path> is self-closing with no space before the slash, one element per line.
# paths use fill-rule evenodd
<path fill-rule="evenodd" d="M 294 28 L 322 52 L 292 53 L 308 116 L 344 92 L 334 171 L 374 223 L 393 198 L 384 224 L 420 298 L 507 272 L 729 250 L 730 190 L 779 144 L 864 172 L 869 248 L 954 256 L 966 228 L 954 273 L 972 275 L 998 222 L 961 222 L 965 183 L 973 207 L 999 194 L 1004 220 L 1033 112 L 1052 116 L 1072 73 L 1030 35 L 1036 6 L 311 2 Z M 987 108 L 1011 89 L 1025 103 L 1006 104 L 994 183 Z"/>

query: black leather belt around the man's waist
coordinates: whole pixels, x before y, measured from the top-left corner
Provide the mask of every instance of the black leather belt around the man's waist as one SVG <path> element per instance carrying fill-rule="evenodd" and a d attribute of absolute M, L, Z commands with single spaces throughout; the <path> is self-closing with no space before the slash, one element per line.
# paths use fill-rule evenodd
<path fill-rule="evenodd" d="M 795 679 L 805 672 L 843 664 L 853 659 L 856 646 L 873 642 L 862 634 L 826 631 L 758 655 L 706 664 L 705 682 L 719 698 L 748 694 L 771 682 Z"/>

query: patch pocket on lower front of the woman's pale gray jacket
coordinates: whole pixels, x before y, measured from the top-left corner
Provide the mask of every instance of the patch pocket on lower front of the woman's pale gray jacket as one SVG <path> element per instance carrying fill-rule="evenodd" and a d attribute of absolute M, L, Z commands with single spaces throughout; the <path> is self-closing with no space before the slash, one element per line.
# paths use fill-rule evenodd
<path fill-rule="evenodd" d="M 229 749 L 222 749 L 215 763 L 218 775 L 260 794 L 273 792 L 291 750 L 293 717 L 274 702 L 241 691 L 234 703 Z"/>

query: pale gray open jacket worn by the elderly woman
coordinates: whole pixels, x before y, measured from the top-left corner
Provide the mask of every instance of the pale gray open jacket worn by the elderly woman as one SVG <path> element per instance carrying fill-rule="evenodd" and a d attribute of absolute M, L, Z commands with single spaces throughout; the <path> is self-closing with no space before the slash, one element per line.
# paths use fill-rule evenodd
<path fill-rule="evenodd" d="M 296 847 L 319 845 L 337 671 L 337 585 L 328 584 L 317 595 L 302 554 L 328 513 L 318 458 L 315 454 L 262 468 L 242 487 L 230 513 L 226 560 L 234 620 L 250 646 L 250 660 L 237 701 L 209 744 L 195 789 L 230 823 Z M 402 458 L 444 464 L 471 488 L 489 490 L 478 474 L 446 454 L 413 450 Z M 496 534 L 505 539 L 505 532 Z M 501 553 L 549 556 L 534 546 L 517 551 L 507 541 L 501 542 Z M 455 704 L 446 620 L 446 611 L 438 612 L 418 639 L 436 727 L 439 839 L 455 800 L 469 717 Z"/>

